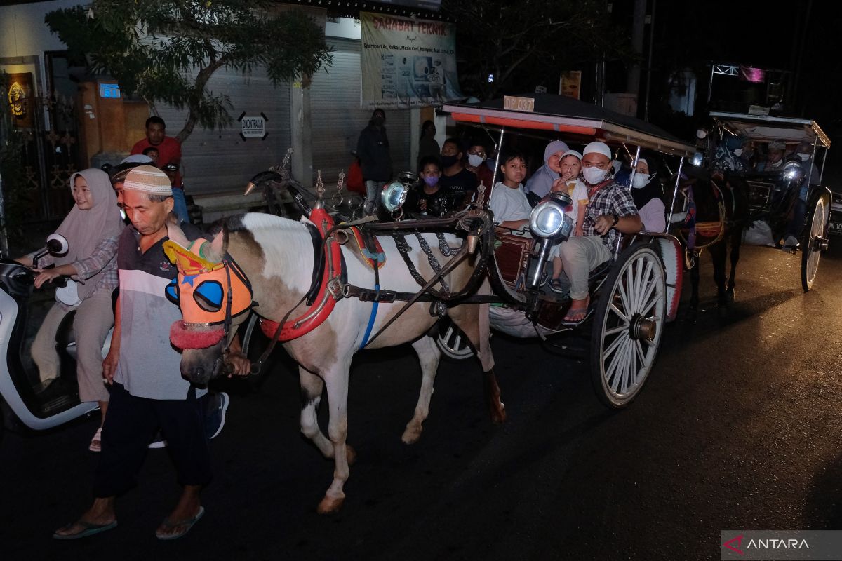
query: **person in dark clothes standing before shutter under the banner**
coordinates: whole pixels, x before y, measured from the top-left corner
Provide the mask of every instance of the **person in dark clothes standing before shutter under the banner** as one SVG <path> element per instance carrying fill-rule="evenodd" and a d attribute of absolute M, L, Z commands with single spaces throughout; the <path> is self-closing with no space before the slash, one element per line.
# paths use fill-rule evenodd
<path fill-rule="evenodd" d="M 386 182 L 392 178 L 392 155 L 389 153 L 389 139 L 386 137 L 386 113 L 375 109 L 371 120 L 360 132 L 357 140 L 357 157 L 365 181 L 365 214 L 376 214 L 380 206 L 380 193 Z"/>

